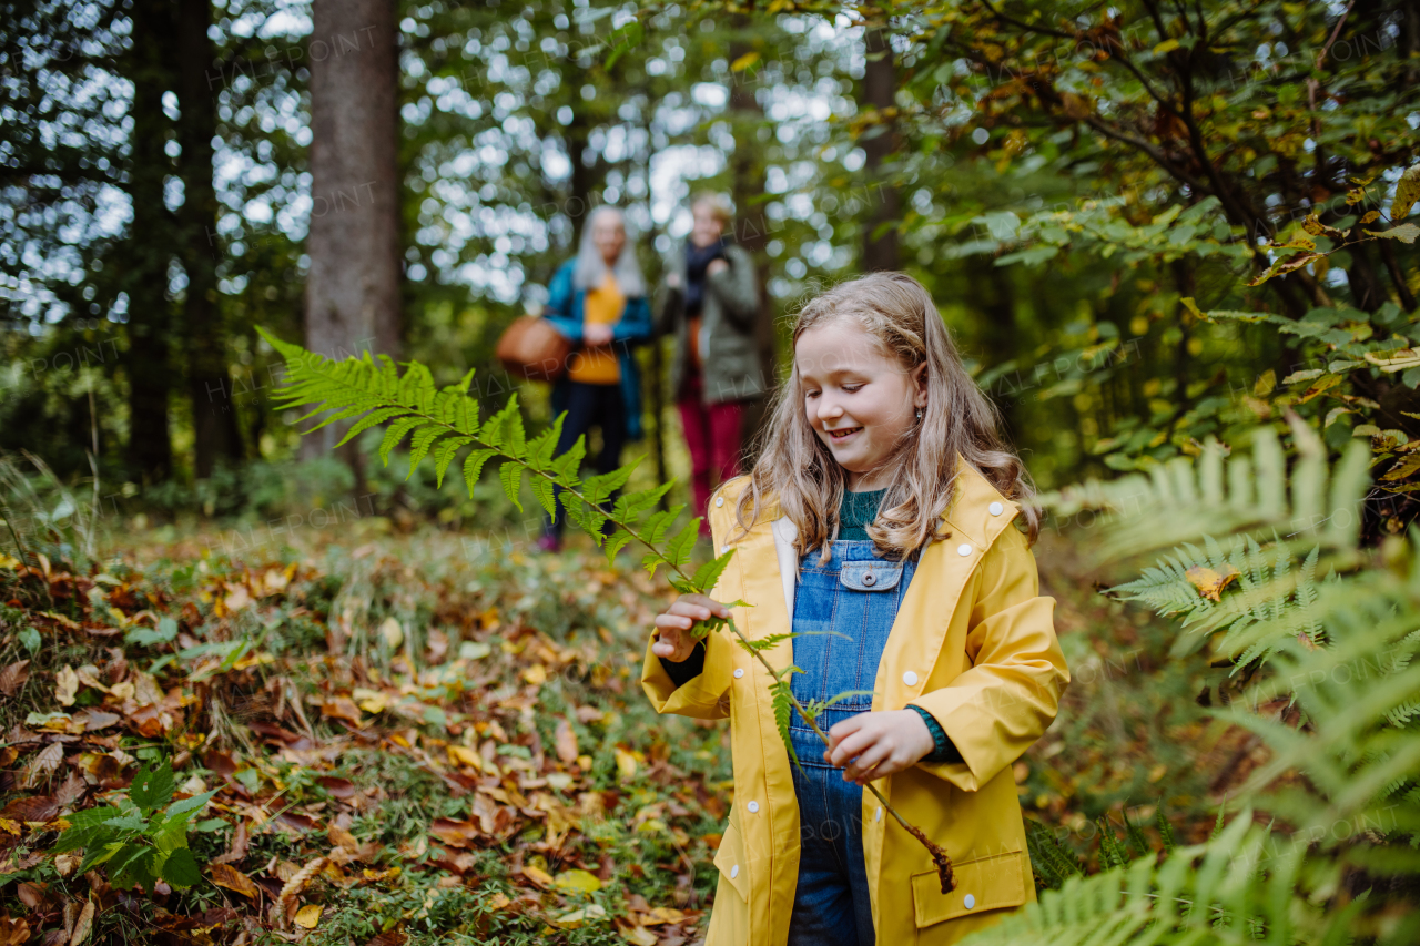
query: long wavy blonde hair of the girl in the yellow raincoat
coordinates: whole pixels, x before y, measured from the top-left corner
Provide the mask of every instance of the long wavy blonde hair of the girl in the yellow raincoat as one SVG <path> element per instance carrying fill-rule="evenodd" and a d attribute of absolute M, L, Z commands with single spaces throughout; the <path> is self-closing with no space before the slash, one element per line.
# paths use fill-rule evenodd
<path fill-rule="evenodd" d="M 1035 491 L 1020 457 L 997 433 L 998 415 L 961 366 L 951 335 L 927 290 L 905 273 L 873 273 L 841 283 L 807 303 L 794 321 L 794 345 L 811 328 L 851 320 L 883 354 L 914 372 L 926 365 L 927 405 L 922 420 L 886 462 L 892 482 L 868 535 L 879 555 L 906 557 L 934 538 L 944 538 L 943 514 L 956 489 L 957 457 L 976 467 L 995 489 L 1021 504 L 1030 541 L 1039 533 Z M 771 422 L 761 435 L 760 459 L 750 487 L 740 493 L 736 520 L 753 527 L 771 497 L 798 527 L 799 555 L 822 550 L 838 535 L 838 507 L 846 476 L 814 433 L 804 411 L 802 381 L 795 364 L 775 393 Z"/>

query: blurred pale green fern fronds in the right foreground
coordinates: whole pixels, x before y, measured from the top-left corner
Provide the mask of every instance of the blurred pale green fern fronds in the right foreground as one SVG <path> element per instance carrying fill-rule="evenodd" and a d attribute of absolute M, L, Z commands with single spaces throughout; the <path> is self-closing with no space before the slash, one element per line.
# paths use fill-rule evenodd
<path fill-rule="evenodd" d="M 1298 568 L 1285 540 L 1264 545 L 1248 534 L 1220 541 L 1204 531 L 1289 526 L 1289 517 L 1316 509 L 1328 480 L 1333 517 L 1358 514 L 1363 452 L 1353 447 L 1332 472 L 1319 450 L 1308 453 L 1315 436 L 1296 430 L 1295 439 L 1301 456 L 1291 476 L 1275 462 L 1275 436 L 1262 433 L 1254 440 L 1255 467 L 1234 457 L 1227 493 L 1207 486 L 1221 482 L 1207 455 L 1197 470 L 1179 463 L 1169 477 L 1143 482 L 1145 509 L 1164 524 L 1160 535 L 1183 543 L 1143 578 L 1115 589 L 1206 632 L 1191 636 L 1248 668 L 1241 696 L 1211 710 L 1267 750 L 1267 761 L 1234 795 L 1241 811 L 1230 818 L 1221 805 L 1204 844 L 1177 848 L 1160 808 L 1162 859 L 1129 858 L 1127 848 L 1149 848 L 1127 817 L 1123 841 L 1100 820 L 1108 869 L 1089 878 L 1069 876 L 1069 852 L 1034 828 L 1032 865 L 1049 889 L 1022 915 L 966 942 L 1399 946 L 1420 935 L 1420 912 L 1399 893 L 1420 878 L 1420 535 L 1377 568 L 1355 547 L 1355 520 L 1329 524 L 1311 530 L 1309 538 L 1322 541 Z M 1252 469 L 1261 470 L 1257 480 Z M 1140 486 L 1135 479 L 1132 493 L 1112 484 L 1091 496 L 1118 501 L 1137 496 Z M 1251 496 L 1258 510 L 1241 510 L 1238 496 Z M 1184 523 L 1190 516 L 1191 528 Z M 1136 527 L 1125 521 L 1109 528 Z M 1112 543 L 1118 537 L 1106 547 L 1137 551 L 1149 540 L 1136 531 Z M 1323 553 L 1332 571 L 1318 581 Z M 1190 577 L 1190 568 L 1210 574 Z M 1220 584 L 1230 570 L 1235 577 Z M 1220 599 L 1208 599 L 1206 589 Z M 1278 706 L 1289 712 L 1278 713 Z M 1271 827 L 1254 824 L 1260 817 Z M 1352 888 L 1358 895 L 1350 896 L 1339 886 L 1348 875 L 1365 878 L 1370 889 Z M 1384 923 L 1377 922 L 1382 915 L 1389 916 Z"/>

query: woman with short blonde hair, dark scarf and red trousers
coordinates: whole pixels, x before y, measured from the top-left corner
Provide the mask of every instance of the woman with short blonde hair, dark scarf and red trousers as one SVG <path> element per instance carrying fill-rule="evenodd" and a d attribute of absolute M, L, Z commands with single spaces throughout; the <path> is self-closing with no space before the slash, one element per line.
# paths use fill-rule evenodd
<path fill-rule="evenodd" d="M 754 260 L 726 237 L 723 197 L 701 195 L 690 210 L 694 226 L 670 266 L 656 328 L 676 334 L 670 384 L 690 449 L 694 511 L 704 516 L 710 490 L 738 473 L 744 406 L 765 384 L 754 338 L 761 312 Z"/>

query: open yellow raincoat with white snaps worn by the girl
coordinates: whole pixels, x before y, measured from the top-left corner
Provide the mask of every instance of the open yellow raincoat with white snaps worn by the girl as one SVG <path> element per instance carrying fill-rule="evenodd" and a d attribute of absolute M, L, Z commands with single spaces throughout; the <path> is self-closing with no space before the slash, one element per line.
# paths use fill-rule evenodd
<path fill-rule="evenodd" d="M 710 509 L 716 550 L 737 530 L 747 477 Z M 863 791 L 863 851 L 880 946 L 946 946 L 1035 899 L 1011 764 L 1055 719 L 1069 683 L 1035 557 L 1011 526 L 1018 507 L 963 463 L 946 514 L 950 537 L 922 553 L 878 679 L 873 710 L 930 712 L 964 763 L 924 764 L 873 784 L 947 849 L 956 889 L 941 893 L 926 848 Z M 795 527 L 777 509 L 733 543 L 713 597 L 755 639 L 787 634 L 794 614 Z M 655 641 L 655 634 L 652 635 Z M 792 641 L 765 652 L 792 662 Z M 706 946 L 782 946 L 798 882 L 799 810 L 791 763 L 770 705 L 771 678 L 728 631 L 706 641 L 704 672 L 682 687 L 646 645 L 642 686 L 659 713 L 730 717 L 734 807 L 716 852 L 720 869 Z"/>

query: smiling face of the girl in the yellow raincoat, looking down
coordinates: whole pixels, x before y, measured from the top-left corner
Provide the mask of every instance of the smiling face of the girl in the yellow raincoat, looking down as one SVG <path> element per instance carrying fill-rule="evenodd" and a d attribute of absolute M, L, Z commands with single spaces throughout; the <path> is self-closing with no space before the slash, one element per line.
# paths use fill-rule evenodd
<path fill-rule="evenodd" d="M 927 403 L 927 365 L 906 368 L 883 354 L 878 339 L 851 318 L 815 325 L 798 338 L 794 365 L 804 415 L 814 433 L 848 472 L 848 489 L 888 486 L 883 469 Z"/>

